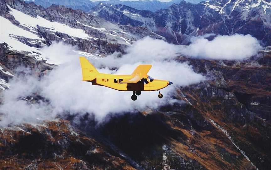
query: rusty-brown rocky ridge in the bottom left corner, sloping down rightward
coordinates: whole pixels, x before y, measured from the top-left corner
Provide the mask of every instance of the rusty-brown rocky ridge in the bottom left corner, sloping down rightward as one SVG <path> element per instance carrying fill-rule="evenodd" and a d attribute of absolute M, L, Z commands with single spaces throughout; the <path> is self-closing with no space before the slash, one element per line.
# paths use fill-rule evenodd
<path fill-rule="evenodd" d="M 134 169 L 68 121 L 0 130 L 1 169 Z"/>

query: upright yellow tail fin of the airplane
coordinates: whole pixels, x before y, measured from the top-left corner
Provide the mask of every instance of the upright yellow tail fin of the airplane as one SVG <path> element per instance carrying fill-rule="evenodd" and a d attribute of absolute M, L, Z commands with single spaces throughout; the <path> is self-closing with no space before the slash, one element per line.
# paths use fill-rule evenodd
<path fill-rule="evenodd" d="M 94 80 L 96 76 L 99 74 L 99 72 L 85 57 L 79 57 L 79 59 L 82 68 L 83 81 Z"/>

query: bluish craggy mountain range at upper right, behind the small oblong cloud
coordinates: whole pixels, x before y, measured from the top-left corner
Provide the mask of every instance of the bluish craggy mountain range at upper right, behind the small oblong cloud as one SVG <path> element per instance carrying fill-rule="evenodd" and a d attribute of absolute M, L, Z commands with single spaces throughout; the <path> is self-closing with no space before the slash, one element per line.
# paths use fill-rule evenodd
<path fill-rule="evenodd" d="M 136 10 L 125 5 L 100 3 L 91 14 L 105 20 L 123 24 L 145 26 L 174 44 L 189 44 L 192 36 L 251 34 L 263 45 L 271 44 L 268 1 L 222 0 L 198 4 L 173 4 L 155 13 Z M 121 22 L 119 22 L 121 21 Z"/>

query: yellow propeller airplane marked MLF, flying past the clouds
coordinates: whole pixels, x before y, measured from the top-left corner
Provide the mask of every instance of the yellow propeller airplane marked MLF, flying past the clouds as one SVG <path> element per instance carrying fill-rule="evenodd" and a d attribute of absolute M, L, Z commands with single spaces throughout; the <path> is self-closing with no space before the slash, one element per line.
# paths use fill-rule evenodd
<path fill-rule="evenodd" d="M 162 98 L 160 89 L 173 84 L 165 80 L 156 80 L 147 75 L 151 65 L 139 65 L 130 75 L 114 75 L 99 73 L 85 58 L 80 57 L 83 81 L 92 82 L 93 85 L 105 86 L 119 91 L 134 92 L 131 99 L 136 100 L 141 91 L 159 91 L 158 97 Z M 136 96 L 137 95 L 137 96 Z"/>

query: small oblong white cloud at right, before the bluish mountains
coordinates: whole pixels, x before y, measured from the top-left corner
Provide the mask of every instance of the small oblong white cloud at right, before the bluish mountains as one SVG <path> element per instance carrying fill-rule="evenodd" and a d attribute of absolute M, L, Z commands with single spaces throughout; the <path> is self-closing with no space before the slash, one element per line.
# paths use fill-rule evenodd
<path fill-rule="evenodd" d="M 244 60 L 256 55 L 261 48 L 251 35 L 218 35 L 211 41 L 206 36 L 199 36 L 193 37 L 190 45 L 183 46 L 181 53 L 205 59 Z"/>

